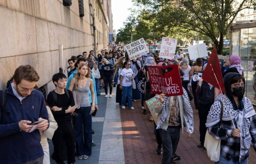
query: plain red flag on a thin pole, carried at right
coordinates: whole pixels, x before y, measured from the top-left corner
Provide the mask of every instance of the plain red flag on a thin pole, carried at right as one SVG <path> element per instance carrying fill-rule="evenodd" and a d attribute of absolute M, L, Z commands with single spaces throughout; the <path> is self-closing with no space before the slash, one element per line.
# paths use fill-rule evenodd
<path fill-rule="evenodd" d="M 214 87 L 220 89 L 222 93 L 226 93 L 221 73 L 221 66 L 219 64 L 219 58 L 215 46 L 212 50 L 210 59 L 207 62 L 202 78 L 207 83 L 210 83 Z"/>

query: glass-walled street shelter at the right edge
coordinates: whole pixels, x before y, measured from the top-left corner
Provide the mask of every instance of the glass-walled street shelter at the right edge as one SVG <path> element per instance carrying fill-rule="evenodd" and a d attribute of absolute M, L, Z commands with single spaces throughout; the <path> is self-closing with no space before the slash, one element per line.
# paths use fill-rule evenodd
<path fill-rule="evenodd" d="M 248 23 L 246 23 L 248 24 Z M 256 104 L 256 24 L 246 27 L 246 24 L 231 26 L 231 55 L 239 55 L 244 68 L 246 81 L 246 97 Z M 238 26 L 238 28 L 236 28 Z M 254 89 L 255 88 L 255 89 Z"/>

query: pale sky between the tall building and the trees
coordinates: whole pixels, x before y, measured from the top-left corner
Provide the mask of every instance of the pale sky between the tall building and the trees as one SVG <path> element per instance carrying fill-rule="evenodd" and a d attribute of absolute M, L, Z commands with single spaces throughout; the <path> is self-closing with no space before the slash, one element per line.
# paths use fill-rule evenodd
<path fill-rule="evenodd" d="M 123 27 L 123 22 L 131 14 L 128 8 L 132 8 L 132 0 L 112 0 L 113 29 Z"/>

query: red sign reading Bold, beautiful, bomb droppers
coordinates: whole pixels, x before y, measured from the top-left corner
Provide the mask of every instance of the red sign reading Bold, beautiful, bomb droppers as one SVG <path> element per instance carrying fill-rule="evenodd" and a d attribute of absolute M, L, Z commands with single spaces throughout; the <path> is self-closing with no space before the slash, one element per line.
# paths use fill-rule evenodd
<path fill-rule="evenodd" d="M 178 65 L 147 66 L 152 94 L 183 95 Z"/>

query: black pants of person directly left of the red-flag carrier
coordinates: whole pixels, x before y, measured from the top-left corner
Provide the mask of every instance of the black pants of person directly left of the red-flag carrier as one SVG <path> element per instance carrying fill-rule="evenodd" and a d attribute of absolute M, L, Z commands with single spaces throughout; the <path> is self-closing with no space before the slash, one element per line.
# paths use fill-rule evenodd
<path fill-rule="evenodd" d="M 200 142 L 201 144 L 204 144 L 204 138 L 206 134 L 206 120 L 208 113 L 210 111 L 212 103 L 209 104 L 198 104 L 198 115 L 199 115 L 199 132 L 200 132 Z"/>

